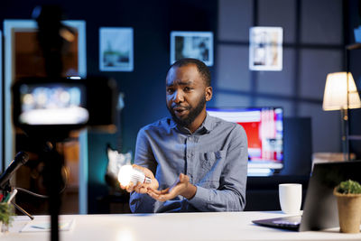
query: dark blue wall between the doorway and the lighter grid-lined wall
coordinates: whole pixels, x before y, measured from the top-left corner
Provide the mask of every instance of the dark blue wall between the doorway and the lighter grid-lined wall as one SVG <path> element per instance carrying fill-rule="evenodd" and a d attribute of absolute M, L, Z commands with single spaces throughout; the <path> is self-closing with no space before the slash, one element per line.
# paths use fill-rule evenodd
<path fill-rule="evenodd" d="M 0 7 L 4 19 L 31 19 L 36 5 L 49 1 L 5 1 Z M 143 126 L 168 115 L 164 81 L 170 66 L 171 31 L 217 31 L 217 1 L 51 1 L 60 5 L 69 20 L 87 24 L 87 73 L 117 80 L 124 94 L 120 114 L 121 131 L 116 134 L 88 133 L 88 210 L 97 211 L 97 197 L 107 193 L 106 144 L 120 151 L 134 151 L 136 134 Z M 99 71 L 99 28 L 134 28 L 134 71 Z M 213 69 L 211 71 L 213 73 Z"/>

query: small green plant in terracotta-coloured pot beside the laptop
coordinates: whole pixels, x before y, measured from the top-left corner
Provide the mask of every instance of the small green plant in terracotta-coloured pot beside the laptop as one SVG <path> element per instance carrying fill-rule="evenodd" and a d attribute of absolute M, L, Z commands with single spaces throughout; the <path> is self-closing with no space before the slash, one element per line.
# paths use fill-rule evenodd
<path fill-rule="evenodd" d="M 357 181 L 342 181 L 334 189 L 338 199 L 340 232 L 359 233 L 361 222 L 361 185 Z"/>

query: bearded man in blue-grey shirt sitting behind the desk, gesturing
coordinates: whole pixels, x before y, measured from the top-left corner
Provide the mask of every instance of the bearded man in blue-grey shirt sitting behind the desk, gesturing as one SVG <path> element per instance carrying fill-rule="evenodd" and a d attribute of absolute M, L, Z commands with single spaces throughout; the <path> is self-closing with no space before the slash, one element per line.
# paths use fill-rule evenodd
<path fill-rule="evenodd" d="M 208 116 L 211 97 L 210 72 L 202 61 L 182 59 L 171 65 L 166 77 L 171 118 L 143 127 L 135 148 L 134 167 L 152 183 L 121 186 L 132 192 L 133 212 L 245 208 L 245 130 Z"/>

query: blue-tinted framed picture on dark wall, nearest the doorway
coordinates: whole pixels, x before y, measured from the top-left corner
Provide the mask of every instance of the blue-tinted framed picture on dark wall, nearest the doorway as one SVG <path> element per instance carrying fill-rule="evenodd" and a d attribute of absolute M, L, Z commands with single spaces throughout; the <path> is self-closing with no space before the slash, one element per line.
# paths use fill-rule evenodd
<path fill-rule="evenodd" d="M 99 69 L 133 71 L 133 28 L 102 27 L 99 36 Z"/>

